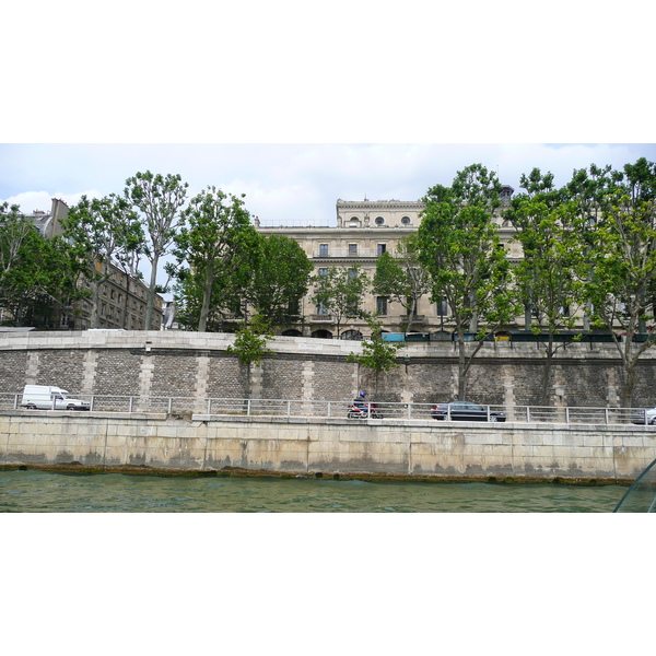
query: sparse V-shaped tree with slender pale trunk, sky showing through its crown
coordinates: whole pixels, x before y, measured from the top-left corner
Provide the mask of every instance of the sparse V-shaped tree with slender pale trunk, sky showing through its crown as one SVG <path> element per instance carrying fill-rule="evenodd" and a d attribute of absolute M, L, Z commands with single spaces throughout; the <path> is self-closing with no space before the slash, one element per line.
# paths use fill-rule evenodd
<path fill-rule="evenodd" d="M 126 180 L 125 196 L 143 214 L 147 236 L 143 251 L 151 263 L 150 285 L 145 306 L 145 328 L 152 327 L 160 259 L 166 255 L 177 234 L 180 209 L 187 197 L 187 183 L 179 175 L 137 173 Z"/>

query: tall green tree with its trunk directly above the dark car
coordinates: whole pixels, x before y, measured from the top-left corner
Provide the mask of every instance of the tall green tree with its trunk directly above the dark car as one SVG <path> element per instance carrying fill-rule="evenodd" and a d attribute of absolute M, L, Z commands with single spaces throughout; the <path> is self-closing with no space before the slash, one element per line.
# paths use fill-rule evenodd
<path fill-rule="evenodd" d="M 501 189 L 494 173 L 473 164 L 458 172 L 450 187 L 436 185 L 423 199 L 420 261 L 432 277 L 431 300 L 446 302 L 456 330 L 459 399 L 466 397 L 467 374 L 482 340 L 517 313 L 509 263 L 493 221 Z M 466 332 L 478 340 L 470 351 Z"/>

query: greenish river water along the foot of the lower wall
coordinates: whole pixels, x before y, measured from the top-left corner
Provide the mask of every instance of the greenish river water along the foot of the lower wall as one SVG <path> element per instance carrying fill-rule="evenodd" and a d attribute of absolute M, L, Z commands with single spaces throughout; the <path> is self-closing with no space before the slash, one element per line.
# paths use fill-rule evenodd
<path fill-rule="evenodd" d="M 3 513 L 610 513 L 628 488 L 0 471 Z"/>

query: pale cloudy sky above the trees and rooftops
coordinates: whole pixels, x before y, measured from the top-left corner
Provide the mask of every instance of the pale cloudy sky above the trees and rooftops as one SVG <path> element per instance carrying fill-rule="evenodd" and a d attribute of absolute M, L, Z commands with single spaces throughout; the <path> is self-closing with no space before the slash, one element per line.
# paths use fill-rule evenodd
<path fill-rule="evenodd" d="M 621 168 L 642 156 L 656 161 L 656 144 L 2 143 L 0 200 L 47 211 L 51 198 L 71 206 L 83 194 L 122 194 L 126 178 L 152 171 L 179 174 L 189 196 L 209 185 L 245 194 L 262 225 L 335 225 L 339 198 L 418 200 L 473 163 L 518 191 L 522 174 L 534 167 L 564 185 L 575 168 Z"/>

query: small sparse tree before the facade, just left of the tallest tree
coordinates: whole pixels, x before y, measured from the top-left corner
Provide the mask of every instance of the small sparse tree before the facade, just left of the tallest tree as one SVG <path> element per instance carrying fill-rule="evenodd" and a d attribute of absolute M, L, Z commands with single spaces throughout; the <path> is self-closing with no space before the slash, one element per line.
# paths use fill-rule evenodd
<path fill-rule="evenodd" d="M 431 291 L 431 278 L 419 261 L 417 235 L 401 237 L 394 256 L 384 253 L 378 257 L 372 286 L 377 296 L 403 307 L 402 329 L 408 332 L 417 316 L 419 300 Z"/>

